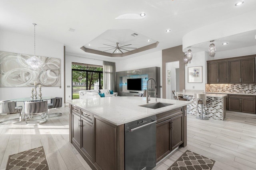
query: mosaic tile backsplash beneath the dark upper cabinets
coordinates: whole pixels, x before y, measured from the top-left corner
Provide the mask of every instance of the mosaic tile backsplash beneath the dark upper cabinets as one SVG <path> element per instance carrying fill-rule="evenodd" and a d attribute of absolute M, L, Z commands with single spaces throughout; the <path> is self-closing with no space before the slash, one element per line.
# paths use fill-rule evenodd
<path fill-rule="evenodd" d="M 205 84 L 206 92 L 256 94 L 256 84 Z"/>

